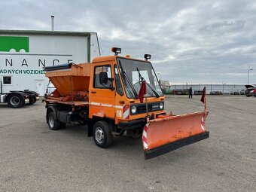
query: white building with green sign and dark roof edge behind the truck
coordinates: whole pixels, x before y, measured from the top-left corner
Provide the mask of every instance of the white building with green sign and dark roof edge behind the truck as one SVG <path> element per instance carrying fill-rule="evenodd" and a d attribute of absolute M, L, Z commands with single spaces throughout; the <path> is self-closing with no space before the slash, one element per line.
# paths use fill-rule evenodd
<path fill-rule="evenodd" d="M 0 30 L 0 81 L 2 93 L 47 88 L 44 66 L 90 62 L 100 55 L 96 32 Z"/>

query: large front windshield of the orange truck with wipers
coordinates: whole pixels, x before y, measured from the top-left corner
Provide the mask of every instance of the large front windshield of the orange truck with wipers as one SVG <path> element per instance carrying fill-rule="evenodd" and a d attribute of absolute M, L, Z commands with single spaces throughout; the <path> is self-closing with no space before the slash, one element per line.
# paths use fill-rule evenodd
<path fill-rule="evenodd" d="M 142 78 L 147 82 L 147 96 L 163 96 L 151 62 L 117 58 L 123 87 L 128 98 L 137 98 Z"/>

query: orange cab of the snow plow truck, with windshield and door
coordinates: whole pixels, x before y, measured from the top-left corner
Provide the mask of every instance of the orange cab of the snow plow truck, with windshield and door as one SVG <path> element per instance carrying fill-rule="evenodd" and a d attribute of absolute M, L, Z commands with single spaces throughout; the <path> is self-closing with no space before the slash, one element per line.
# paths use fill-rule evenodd
<path fill-rule="evenodd" d="M 120 129 L 143 127 L 147 114 L 162 114 L 164 96 L 157 75 L 148 60 L 129 56 L 101 56 L 91 65 L 89 117 L 106 117 Z M 147 102 L 138 99 L 142 79 L 146 81 Z"/>

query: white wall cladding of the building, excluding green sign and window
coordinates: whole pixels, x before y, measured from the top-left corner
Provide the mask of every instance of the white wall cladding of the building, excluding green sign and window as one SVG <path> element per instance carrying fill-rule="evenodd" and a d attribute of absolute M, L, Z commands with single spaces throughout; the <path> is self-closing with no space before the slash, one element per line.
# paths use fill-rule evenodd
<path fill-rule="evenodd" d="M 2 85 L 3 93 L 9 90 L 37 90 L 40 84 L 46 90 L 48 79 L 44 75 L 44 63 L 45 66 L 53 66 L 55 63 L 56 66 L 67 62 L 88 62 L 86 36 L 27 34 L 5 36 L 29 37 L 29 52 L 0 51 L 0 80 L 3 81 L 3 76 L 12 77 L 11 85 Z M 99 56 L 99 46 L 96 37 L 91 39 L 90 59 L 93 59 L 94 56 Z"/>

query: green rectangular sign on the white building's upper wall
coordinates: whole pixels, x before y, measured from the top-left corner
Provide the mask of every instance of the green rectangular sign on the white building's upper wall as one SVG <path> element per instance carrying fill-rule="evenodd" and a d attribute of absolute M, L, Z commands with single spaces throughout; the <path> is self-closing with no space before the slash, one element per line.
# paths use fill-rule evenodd
<path fill-rule="evenodd" d="M 29 52 L 29 37 L 0 36 L 0 51 L 10 52 L 11 49 Z"/>

